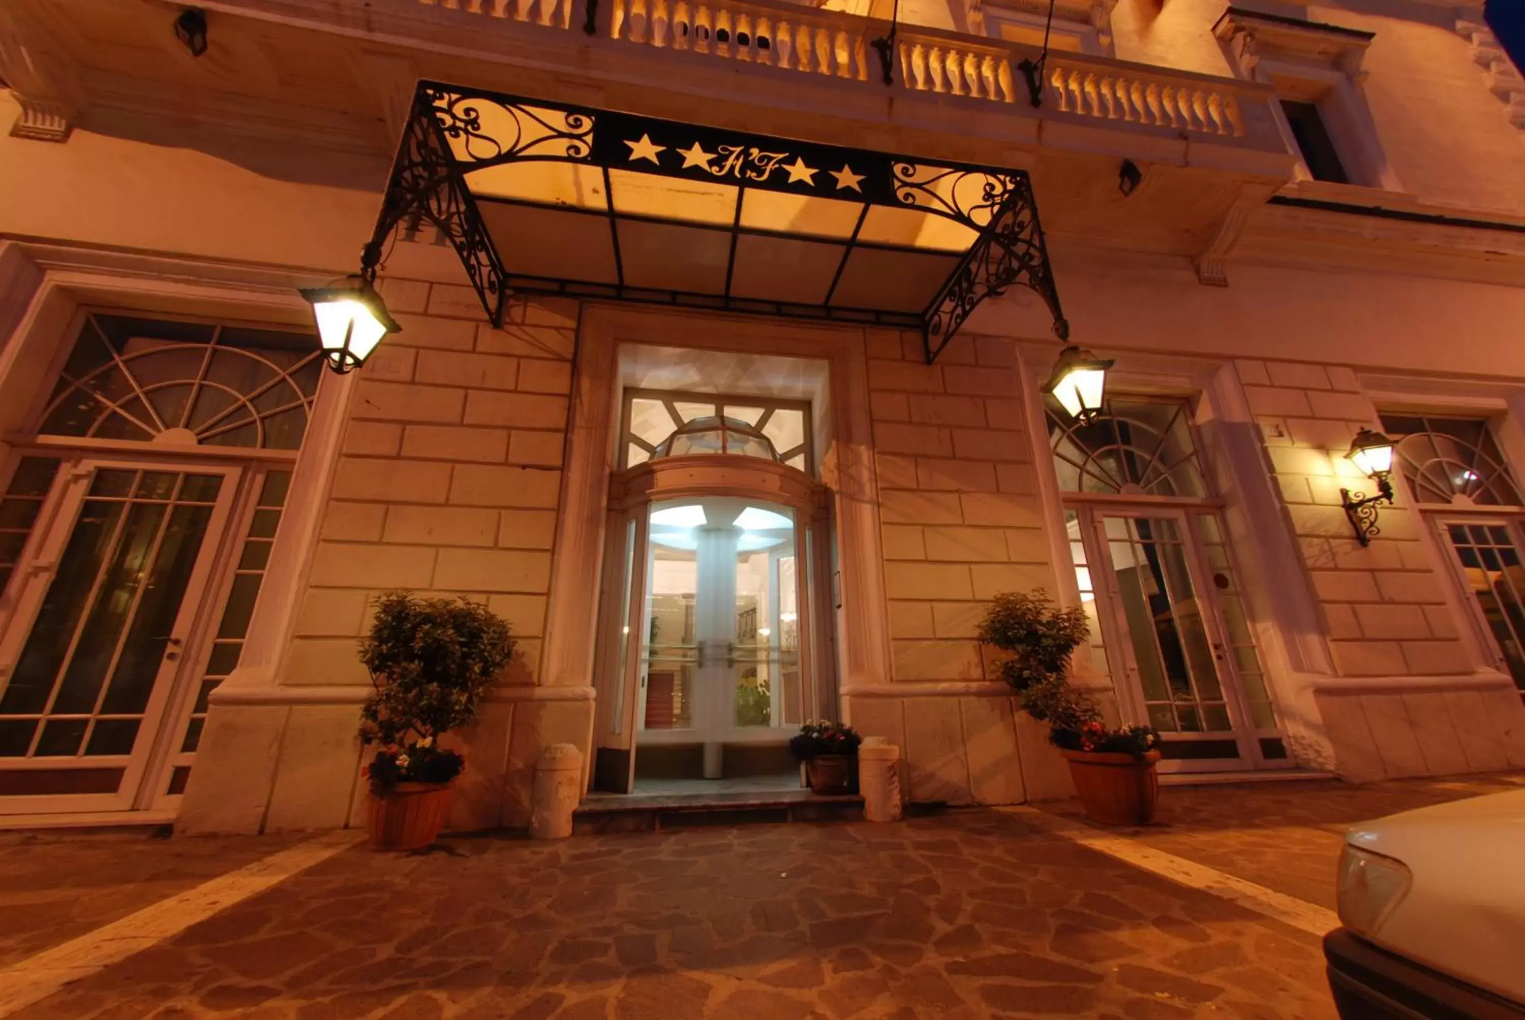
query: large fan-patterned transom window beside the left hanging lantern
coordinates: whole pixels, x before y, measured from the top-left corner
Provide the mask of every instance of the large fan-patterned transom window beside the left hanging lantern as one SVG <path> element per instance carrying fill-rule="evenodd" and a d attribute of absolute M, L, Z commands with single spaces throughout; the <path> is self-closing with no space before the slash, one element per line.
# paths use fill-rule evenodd
<path fill-rule="evenodd" d="M 310 332 L 90 313 L 38 431 L 297 450 L 320 374 Z"/>

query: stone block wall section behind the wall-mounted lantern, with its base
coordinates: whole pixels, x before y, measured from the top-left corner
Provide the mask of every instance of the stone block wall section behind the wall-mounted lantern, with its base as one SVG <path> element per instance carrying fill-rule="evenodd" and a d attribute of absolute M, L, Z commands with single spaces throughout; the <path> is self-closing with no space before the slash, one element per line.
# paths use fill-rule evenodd
<path fill-rule="evenodd" d="M 1340 488 L 1371 494 L 1345 451 L 1376 407 L 1356 374 L 1334 364 L 1237 361 L 1250 412 L 1302 552 L 1334 668 L 1350 678 L 1435 677 L 1412 692 L 1353 686 L 1316 703 L 1340 775 L 1357 781 L 1525 765 L 1525 707 L 1511 691 L 1444 691 L 1473 672 L 1423 521 L 1400 494 L 1382 534 L 1356 541 Z"/>

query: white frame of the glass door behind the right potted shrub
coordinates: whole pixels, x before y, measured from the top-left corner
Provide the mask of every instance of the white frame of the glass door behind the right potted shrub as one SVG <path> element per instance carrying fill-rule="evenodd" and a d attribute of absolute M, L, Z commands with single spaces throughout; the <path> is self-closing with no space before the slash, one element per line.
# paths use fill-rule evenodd
<path fill-rule="evenodd" d="M 1222 500 L 1179 500 L 1168 497 L 1122 497 L 1122 499 L 1066 499 L 1064 508 L 1078 512 L 1081 541 L 1086 544 L 1086 558 L 1092 570 L 1092 590 L 1096 598 L 1106 598 L 1107 604 L 1100 605 L 1096 619 L 1103 628 L 1103 646 L 1107 654 L 1107 665 L 1113 677 L 1113 691 L 1118 694 L 1119 707 L 1124 709 L 1124 720 L 1147 726 L 1142 677 L 1135 660 L 1133 643 L 1124 616 L 1121 598 L 1116 590 L 1116 576 L 1112 570 L 1112 555 L 1106 535 L 1107 517 L 1132 518 L 1170 518 L 1182 535 L 1185 549 L 1186 572 L 1191 579 L 1194 596 L 1202 607 L 1202 622 L 1206 630 L 1208 643 L 1212 651 L 1214 668 L 1218 674 L 1218 685 L 1223 689 L 1223 703 L 1229 712 L 1232 730 L 1202 733 L 1162 733 L 1162 739 L 1170 743 L 1202 743 L 1232 739 L 1238 747 L 1238 758 L 1162 758 L 1159 770 L 1162 773 L 1194 773 L 1194 771 L 1260 771 L 1273 768 L 1292 768 L 1296 762 L 1292 758 L 1272 759 L 1261 752 L 1263 738 L 1276 736 L 1286 739 L 1286 732 L 1278 727 L 1273 733 L 1257 729 L 1244 697 L 1244 685 L 1240 677 L 1238 663 L 1234 662 L 1232 642 L 1228 639 L 1228 625 L 1223 619 L 1223 607 L 1212 584 L 1208 582 L 1211 570 L 1203 555 L 1202 543 L 1193 529 L 1193 514 L 1214 514 L 1218 517 L 1218 528 L 1223 529 Z M 1225 541 L 1225 549 L 1229 546 Z M 1232 550 L 1229 550 L 1232 555 Z M 1238 564 L 1231 563 L 1235 573 Z M 1098 584 L 1096 570 L 1104 572 Z M 1254 639 L 1254 631 L 1250 633 Z M 1255 651 L 1261 656 L 1264 668 L 1264 651 L 1255 642 Z M 1121 666 L 1121 669 L 1119 669 Z M 1118 683 L 1119 674 L 1124 677 Z M 1279 706 L 1278 706 L 1279 710 Z"/>

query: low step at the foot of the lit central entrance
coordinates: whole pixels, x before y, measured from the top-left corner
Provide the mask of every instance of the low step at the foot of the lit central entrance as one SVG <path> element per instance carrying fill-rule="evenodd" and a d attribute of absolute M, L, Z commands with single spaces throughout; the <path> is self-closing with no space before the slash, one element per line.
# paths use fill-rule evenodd
<path fill-rule="evenodd" d="M 702 825 L 862 822 L 863 797 L 808 790 L 593 794 L 572 813 L 572 832 L 657 832 Z"/>

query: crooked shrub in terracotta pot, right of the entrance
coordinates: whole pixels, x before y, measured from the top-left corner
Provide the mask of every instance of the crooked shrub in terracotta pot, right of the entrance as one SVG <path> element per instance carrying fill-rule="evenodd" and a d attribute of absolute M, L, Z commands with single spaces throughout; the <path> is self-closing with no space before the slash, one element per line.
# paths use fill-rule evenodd
<path fill-rule="evenodd" d="M 1083 608 L 1055 608 L 1043 589 L 1034 589 L 997 595 L 979 637 L 1005 653 L 997 669 L 1022 710 L 1048 724 L 1086 816 L 1106 825 L 1147 825 L 1159 803 L 1159 735 L 1148 726 L 1109 727 L 1090 695 L 1071 686 L 1069 659 L 1089 630 Z"/>

